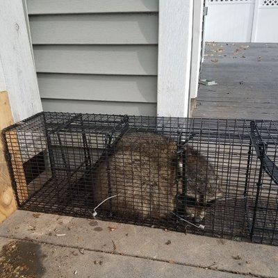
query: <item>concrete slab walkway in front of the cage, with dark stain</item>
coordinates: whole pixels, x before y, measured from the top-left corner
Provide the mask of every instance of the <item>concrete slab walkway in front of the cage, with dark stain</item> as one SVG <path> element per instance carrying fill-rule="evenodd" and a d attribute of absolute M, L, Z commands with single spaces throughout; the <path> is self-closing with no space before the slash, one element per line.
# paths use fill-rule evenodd
<path fill-rule="evenodd" d="M 1 277 L 278 277 L 277 247 L 28 211 L 0 244 Z"/>

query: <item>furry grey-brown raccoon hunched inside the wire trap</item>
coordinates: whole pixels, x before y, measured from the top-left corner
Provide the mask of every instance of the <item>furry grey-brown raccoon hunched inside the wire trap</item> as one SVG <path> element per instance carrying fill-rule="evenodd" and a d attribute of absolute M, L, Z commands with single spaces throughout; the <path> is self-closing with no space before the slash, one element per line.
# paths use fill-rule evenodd
<path fill-rule="evenodd" d="M 215 199 L 215 172 L 204 156 L 191 147 L 188 150 L 186 215 L 197 221 L 204 218 L 204 202 Z M 180 208 L 184 204 L 181 176 L 175 140 L 130 131 L 99 163 L 94 174 L 94 201 L 97 205 L 116 195 L 101 204 L 101 209 L 131 219 L 169 218 L 172 212 L 185 209 Z"/>

